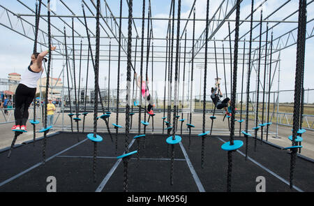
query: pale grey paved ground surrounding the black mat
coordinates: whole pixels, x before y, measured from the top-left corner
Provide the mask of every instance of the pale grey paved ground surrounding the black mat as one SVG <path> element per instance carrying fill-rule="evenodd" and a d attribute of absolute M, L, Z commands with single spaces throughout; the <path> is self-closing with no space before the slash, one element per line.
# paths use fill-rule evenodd
<path fill-rule="evenodd" d="M 10 112 L 13 112 L 10 111 Z M 10 116 L 10 112 L 8 114 L 8 116 L 6 116 L 6 118 L 8 119 L 8 117 L 10 117 L 10 120 L 14 120 L 13 114 L 12 116 Z M 33 118 L 33 113 L 32 113 L 32 109 L 29 110 L 30 112 L 30 119 Z M 39 112 L 39 111 L 38 111 Z M 102 115 L 99 113 L 98 117 Z M 179 114 L 181 115 L 181 113 Z M 3 122 L 3 117 L 2 115 L 0 115 L 0 121 Z M 209 117 L 211 116 L 211 114 L 207 114 L 206 115 L 206 122 L 205 122 L 205 131 L 210 131 L 211 128 L 211 119 L 209 119 Z M 112 126 L 112 123 L 116 123 L 116 114 L 112 113 L 112 115 L 110 116 L 110 131 L 112 133 L 115 132 L 114 127 Z M 162 128 L 163 128 L 163 121 L 161 119 L 161 117 L 163 117 L 163 113 L 156 113 L 156 116 L 154 117 L 154 133 L 162 133 Z M 227 122 L 227 118 L 225 119 L 225 121 L 223 122 L 223 116 L 222 115 L 216 115 L 217 119 L 215 119 L 214 124 L 213 124 L 213 134 L 216 133 L 222 133 L 223 135 L 229 135 L 230 132 L 228 131 L 228 122 Z M 83 118 L 81 116 L 81 118 Z M 184 118 L 187 118 L 187 115 L 184 114 Z M 148 115 L 147 115 L 147 119 L 148 119 Z M 181 119 L 181 117 L 179 118 Z M 62 117 L 62 113 L 56 113 L 54 115 L 54 121 L 56 121 L 56 124 L 54 125 L 54 130 L 58 131 L 58 130 L 65 130 L 65 131 L 70 131 L 70 117 L 68 117 L 68 115 L 64 114 L 64 116 Z M 144 114 L 142 113 L 142 120 L 144 120 Z M 125 113 L 119 113 L 119 122 L 118 124 L 123 126 L 125 128 Z M 149 121 L 150 124 L 149 126 L 147 126 L 147 133 L 151 133 L 151 120 Z M 172 119 L 171 119 L 172 122 Z M 63 125 L 65 125 L 62 128 L 62 123 Z M 186 131 L 186 123 L 184 122 L 184 126 L 183 126 L 183 132 L 187 132 Z M 14 123 L 8 123 L 8 124 L 0 124 L 0 149 L 4 148 L 4 147 L 9 147 L 11 145 L 11 142 L 13 140 L 13 132 L 10 131 L 10 128 L 13 126 Z M 82 121 L 80 122 L 79 128 L 80 131 L 82 131 Z M 181 123 L 179 122 L 179 127 L 178 127 L 178 131 L 177 133 L 180 133 L 180 128 L 181 128 Z M 192 124 L 195 125 L 196 127 L 193 128 L 193 133 L 202 133 L 202 114 L 194 114 L 193 118 L 192 118 Z M 28 124 L 28 132 L 24 133 L 22 135 L 20 135 L 17 138 L 17 142 L 15 144 L 21 144 L 22 142 L 25 142 L 27 140 L 31 140 L 33 139 L 33 127 L 31 124 Z M 138 114 L 136 113 L 133 116 L 133 131 L 137 131 L 138 128 Z M 254 125 L 254 121 L 251 120 L 249 121 L 248 124 L 248 128 L 253 128 Z M 241 129 L 243 130 L 243 128 L 245 127 L 245 124 L 242 123 Z M 40 124 L 38 126 L 36 126 L 36 131 L 38 131 L 40 128 L 43 128 L 43 126 Z M 124 128 L 119 129 L 120 132 L 124 132 Z M 143 128 L 143 127 L 142 127 Z M 94 129 L 94 114 L 90 113 L 89 115 L 87 115 L 86 120 L 85 120 L 85 131 L 93 131 Z M 107 131 L 107 128 L 105 126 L 105 122 L 100 119 L 100 121 L 98 121 L 98 127 L 97 127 L 98 131 Z M 73 130 L 77 131 L 77 126 L 76 123 L 73 121 Z M 254 135 L 253 131 L 249 131 L 251 134 Z M 166 131 L 165 131 L 166 133 Z M 273 142 L 276 145 L 280 145 L 282 147 L 289 147 L 291 146 L 291 141 L 288 140 L 288 136 L 292 135 L 292 131 L 291 131 L 291 127 L 287 127 L 287 126 L 278 126 L 278 135 L 276 136 L 276 124 L 272 124 L 269 127 L 269 142 Z M 41 137 L 43 134 L 42 133 L 36 133 L 36 138 Z M 239 135 L 239 123 L 236 122 L 235 123 L 235 135 Z M 260 137 L 260 131 L 258 136 Z M 275 138 L 276 136 L 276 138 Z M 264 132 L 263 138 L 266 138 L 266 132 Z M 304 141 L 302 142 L 302 146 L 303 148 L 301 149 L 301 154 L 304 156 L 308 156 L 311 159 L 314 159 L 314 132 L 312 131 L 306 131 L 306 133 L 304 133 L 302 135 L 302 138 L 304 138 Z"/>

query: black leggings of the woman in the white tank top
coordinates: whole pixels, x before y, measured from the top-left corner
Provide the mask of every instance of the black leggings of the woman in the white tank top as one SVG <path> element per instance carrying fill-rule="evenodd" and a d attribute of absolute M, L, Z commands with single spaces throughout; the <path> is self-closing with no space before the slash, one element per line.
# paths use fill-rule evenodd
<path fill-rule="evenodd" d="M 36 88 L 29 88 L 19 84 L 15 91 L 15 125 L 26 125 L 29 119 L 29 105 L 36 95 Z"/>

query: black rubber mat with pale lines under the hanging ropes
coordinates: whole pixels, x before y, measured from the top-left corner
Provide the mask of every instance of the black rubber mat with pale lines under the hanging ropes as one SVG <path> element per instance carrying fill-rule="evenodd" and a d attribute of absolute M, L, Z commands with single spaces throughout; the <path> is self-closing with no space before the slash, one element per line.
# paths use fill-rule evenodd
<path fill-rule="evenodd" d="M 149 134 L 133 140 L 135 134 L 115 135 L 99 133 L 102 142 L 96 144 L 87 133 L 56 133 L 49 135 L 46 162 L 43 164 L 43 139 L 35 146 L 27 142 L 0 153 L 0 191 L 47 191 L 47 177 L 56 179 L 57 191 L 124 191 L 131 192 L 224 192 L 227 190 L 227 152 L 220 149 L 229 138 L 207 136 L 204 139 L 204 165 L 202 168 L 202 138 L 197 135 L 182 136 L 181 143 L 172 146 L 165 141 L 167 135 Z M 116 139 L 117 138 L 117 139 Z M 314 191 L 314 165 L 297 158 L 293 183 L 290 189 L 290 154 L 267 143 L 254 151 L 254 140 L 248 140 L 248 159 L 245 159 L 246 141 L 238 151 L 232 152 L 232 191 L 255 192 L 257 177 L 264 177 L 267 192 Z M 116 145 L 117 140 L 117 145 Z M 140 145 L 138 145 L 140 142 Z M 189 146 L 190 142 L 190 146 Z M 127 176 L 124 161 L 117 159 L 124 153 L 137 154 L 128 160 Z M 172 154 L 173 161 L 172 161 Z M 173 165 L 173 170 L 171 170 Z M 94 176 L 95 174 L 95 176 Z M 95 181 L 94 181 L 95 177 Z M 128 181 L 125 182 L 125 177 Z M 172 180 L 170 180 L 172 177 Z"/>

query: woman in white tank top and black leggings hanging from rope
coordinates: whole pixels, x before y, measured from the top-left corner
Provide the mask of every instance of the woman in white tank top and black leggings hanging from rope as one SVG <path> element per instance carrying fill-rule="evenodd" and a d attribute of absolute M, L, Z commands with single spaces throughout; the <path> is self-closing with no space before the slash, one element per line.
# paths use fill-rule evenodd
<path fill-rule="evenodd" d="M 54 51 L 56 47 L 51 47 Z M 20 84 L 15 91 L 15 125 L 12 129 L 27 131 L 26 123 L 29 118 L 29 105 L 36 95 L 37 81 L 43 74 L 43 60 L 47 61 L 45 56 L 49 50 L 31 55 L 31 64 L 22 75 Z"/>

